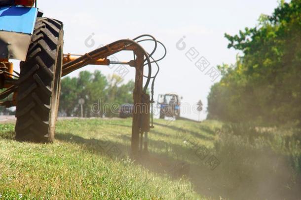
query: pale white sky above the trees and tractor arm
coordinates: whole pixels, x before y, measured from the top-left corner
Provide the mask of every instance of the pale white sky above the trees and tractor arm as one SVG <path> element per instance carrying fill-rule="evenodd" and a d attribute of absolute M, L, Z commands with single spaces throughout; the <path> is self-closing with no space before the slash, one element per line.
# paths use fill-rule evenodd
<path fill-rule="evenodd" d="M 191 108 L 201 100 L 204 109 L 200 119 L 207 115 L 210 87 L 221 79 L 215 74 L 216 66 L 234 63 L 240 53 L 227 48 L 224 34 L 254 27 L 261 14 L 271 14 L 277 5 L 277 0 L 38 0 L 45 17 L 64 23 L 64 53 L 83 54 L 142 34 L 164 43 L 167 56 L 159 62 L 154 99 L 158 94 L 174 92 L 183 96 L 183 106 Z M 151 51 L 153 43 L 143 46 Z M 158 48 L 155 58 L 163 54 Z M 115 58 L 132 59 L 128 53 L 118 53 Z M 69 76 L 75 77 L 82 70 L 101 70 L 108 76 L 117 67 L 87 66 Z M 128 70 L 123 74 L 125 82 L 135 78 L 135 69 Z M 184 110 L 183 117 L 199 118 L 195 109 Z"/>

